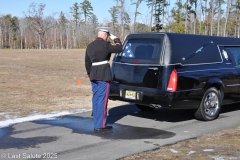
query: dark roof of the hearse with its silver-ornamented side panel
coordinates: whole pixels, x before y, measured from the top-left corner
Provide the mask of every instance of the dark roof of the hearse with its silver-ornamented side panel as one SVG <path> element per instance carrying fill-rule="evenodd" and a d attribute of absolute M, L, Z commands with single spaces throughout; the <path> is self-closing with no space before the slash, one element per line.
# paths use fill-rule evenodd
<path fill-rule="evenodd" d="M 239 38 L 167 32 L 135 33 L 128 35 L 126 40 L 157 37 L 163 40 L 159 53 L 159 63 L 163 66 L 221 63 L 222 56 L 218 46 L 240 46 Z"/>

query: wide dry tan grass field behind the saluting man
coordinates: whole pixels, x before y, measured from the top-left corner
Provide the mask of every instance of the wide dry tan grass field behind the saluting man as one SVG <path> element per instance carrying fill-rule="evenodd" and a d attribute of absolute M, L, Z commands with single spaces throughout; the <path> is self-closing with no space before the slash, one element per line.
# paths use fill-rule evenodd
<path fill-rule="evenodd" d="M 91 109 L 91 86 L 84 56 L 84 49 L 1 50 L 0 120 Z M 81 84 L 77 83 L 79 79 Z M 117 102 L 109 101 L 109 107 L 113 103 Z"/>

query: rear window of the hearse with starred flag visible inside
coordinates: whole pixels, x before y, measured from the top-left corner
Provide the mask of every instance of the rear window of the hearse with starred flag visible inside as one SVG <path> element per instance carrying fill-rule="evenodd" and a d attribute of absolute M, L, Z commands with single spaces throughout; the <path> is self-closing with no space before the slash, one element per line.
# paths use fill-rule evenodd
<path fill-rule="evenodd" d="M 117 57 L 117 62 L 159 63 L 161 51 L 159 39 L 130 39 L 123 52 Z"/>

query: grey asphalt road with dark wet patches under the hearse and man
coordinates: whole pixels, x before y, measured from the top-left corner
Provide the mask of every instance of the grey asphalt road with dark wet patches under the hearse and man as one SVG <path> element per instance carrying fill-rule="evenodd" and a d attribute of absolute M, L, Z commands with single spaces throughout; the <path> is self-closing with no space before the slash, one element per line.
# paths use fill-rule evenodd
<path fill-rule="evenodd" d="M 142 112 L 134 105 L 109 110 L 110 132 L 93 131 L 90 112 L 16 124 L 0 129 L 0 160 L 113 160 L 207 133 L 240 126 L 240 105 L 223 106 L 210 122 L 190 110 Z"/>

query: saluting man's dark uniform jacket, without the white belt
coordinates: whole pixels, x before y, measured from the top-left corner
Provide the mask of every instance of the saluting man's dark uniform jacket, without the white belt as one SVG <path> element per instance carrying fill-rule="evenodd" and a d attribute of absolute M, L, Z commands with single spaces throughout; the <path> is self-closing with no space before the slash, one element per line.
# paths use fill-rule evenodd
<path fill-rule="evenodd" d="M 111 81 L 110 64 L 92 65 L 95 62 L 109 61 L 111 53 L 122 52 L 122 44 L 112 45 L 102 38 L 91 42 L 86 49 L 85 67 L 90 80 Z"/>

